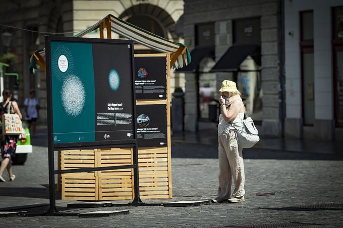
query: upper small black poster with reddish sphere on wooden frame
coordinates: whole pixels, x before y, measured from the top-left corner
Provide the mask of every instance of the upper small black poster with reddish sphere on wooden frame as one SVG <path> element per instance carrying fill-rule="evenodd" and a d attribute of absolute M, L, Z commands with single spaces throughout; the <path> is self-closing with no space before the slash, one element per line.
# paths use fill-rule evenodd
<path fill-rule="evenodd" d="M 166 56 L 135 57 L 136 99 L 166 99 Z"/>

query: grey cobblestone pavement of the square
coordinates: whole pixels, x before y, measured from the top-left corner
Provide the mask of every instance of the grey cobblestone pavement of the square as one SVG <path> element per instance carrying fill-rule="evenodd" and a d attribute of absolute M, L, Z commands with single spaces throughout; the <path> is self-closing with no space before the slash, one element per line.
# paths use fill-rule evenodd
<path fill-rule="evenodd" d="M 28 156 L 25 166 L 14 166 L 17 179 L 0 183 L 0 208 L 48 203 L 47 148 L 44 143 L 36 144 L 43 146 L 34 146 L 34 153 Z M 216 146 L 178 143 L 174 144 L 173 151 L 173 199 L 146 202 L 214 198 L 218 172 Z M 244 161 L 246 202 L 194 207 L 106 207 L 100 210 L 126 209 L 130 214 L 105 218 L 8 217 L 0 218 L 0 227 L 212 227 L 277 222 L 317 224 L 307 227 L 343 227 L 342 209 L 287 208 L 320 203 L 343 204 L 343 161 L 318 158 L 320 155 L 317 154 L 299 157 L 281 151 L 247 150 L 243 154 L 247 155 Z M 4 176 L 7 178 L 7 174 Z M 256 196 L 256 193 L 275 195 Z M 66 206 L 69 202 L 57 201 L 59 206 Z"/>

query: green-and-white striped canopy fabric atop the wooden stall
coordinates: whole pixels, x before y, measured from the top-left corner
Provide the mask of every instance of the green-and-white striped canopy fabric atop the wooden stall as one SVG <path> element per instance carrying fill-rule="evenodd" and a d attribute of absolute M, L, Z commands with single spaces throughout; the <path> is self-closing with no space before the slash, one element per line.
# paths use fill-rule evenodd
<path fill-rule="evenodd" d="M 103 28 L 106 27 L 108 30 L 109 26 L 112 32 L 119 34 L 127 39 L 131 39 L 136 43 L 142 44 L 158 52 L 172 54 L 172 56 L 170 57 L 170 65 L 172 65 L 174 69 L 184 67 L 191 62 L 191 55 L 184 44 L 164 39 L 110 14 L 96 24 L 89 27 L 88 29 L 75 35 L 74 37 L 83 37 L 100 27 L 100 38 L 102 38 L 101 32 L 103 32 Z M 45 49 L 36 50 L 33 53 L 33 56 L 36 62 L 38 62 L 45 71 Z M 30 69 L 31 68 L 34 69 L 36 67 L 31 65 Z"/>

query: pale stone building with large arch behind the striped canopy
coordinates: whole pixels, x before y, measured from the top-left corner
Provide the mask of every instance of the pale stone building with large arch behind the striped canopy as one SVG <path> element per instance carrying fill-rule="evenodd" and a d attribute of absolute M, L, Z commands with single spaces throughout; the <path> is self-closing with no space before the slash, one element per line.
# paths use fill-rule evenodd
<path fill-rule="evenodd" d="M 4 32 L 12 34 L 8 51 L 18 57 L 18 63 L 12 70 L 20 75 L 19 104 L 22 105 L 29 91 L 35 89 L 41 106 L 39 121 L 42 124 L 47 121 L 45 73 L 39 69 L 33 76 L 28 70 L 28 65 L 31 54 L 45 47 L 44 32 L 65 33 L 58 35 L 72 36 L 89 28 L 108 14 L 112 14 L 163 38 L 183 43 L 175 31 L 176 24 L 184 12 L 183 0 L 0 0 L 0 5 L 2 6 L 0 24 L 40 32 L 0 27 L 1 34 Z M 86 37 L 99 38 L 99 31 L 94 31 Z M 112 38 L 121 37 L 112 34 Z M 1 55 L 4 53 L 2 42 L 0 48 Z M 154 53 L 154 51 L 142 45 L 135 45 L 135 53 Z M 170 75 L 172 91 L 175 87 L 185 88 L 183 76 L 174 73 Z"/>

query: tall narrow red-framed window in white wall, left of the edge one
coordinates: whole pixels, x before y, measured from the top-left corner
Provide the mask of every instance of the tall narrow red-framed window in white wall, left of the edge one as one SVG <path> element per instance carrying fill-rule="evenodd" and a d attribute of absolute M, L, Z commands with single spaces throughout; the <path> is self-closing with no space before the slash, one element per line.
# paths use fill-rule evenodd
<path fill-rule="evenodd" d="M 314 124 L 313 11 L 300 12 L 302 113 L 304 125 Z"/>

